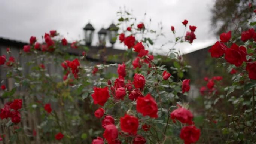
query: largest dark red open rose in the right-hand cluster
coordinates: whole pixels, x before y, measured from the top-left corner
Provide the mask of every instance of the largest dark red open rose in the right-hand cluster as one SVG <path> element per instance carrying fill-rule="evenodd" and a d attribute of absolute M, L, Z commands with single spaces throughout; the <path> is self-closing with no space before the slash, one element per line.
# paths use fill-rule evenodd
<path fill-rule="evenodd" d="M 246 61 L 246 55 L 246 48 L 244 46 L 238 47 L 235 43 L 225 51 L 226 61 L 237 67 L 240 67 Z"/>

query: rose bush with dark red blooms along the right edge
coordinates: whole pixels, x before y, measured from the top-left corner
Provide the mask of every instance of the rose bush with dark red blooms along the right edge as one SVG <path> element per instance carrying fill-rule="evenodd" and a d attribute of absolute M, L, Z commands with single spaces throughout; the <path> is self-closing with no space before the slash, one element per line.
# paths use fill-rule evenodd
<path fill-rule="evenodd" d="M 254 13 L 250 6 L 248 12 Z M 252 28 L 224 32 L 209 49 L 214 62 L 219 63 L 218 69 L 225 71 L 217 73 L 223 77 L 205 77 L 205 82 L 201 81 L 201 96 L 196 101 L 202 102 L 197 108 L 202 113 L 198 126 L 204 143 L 256 142 L 256 23 L 254 19 L 249 21 L 246 27 Z"/>

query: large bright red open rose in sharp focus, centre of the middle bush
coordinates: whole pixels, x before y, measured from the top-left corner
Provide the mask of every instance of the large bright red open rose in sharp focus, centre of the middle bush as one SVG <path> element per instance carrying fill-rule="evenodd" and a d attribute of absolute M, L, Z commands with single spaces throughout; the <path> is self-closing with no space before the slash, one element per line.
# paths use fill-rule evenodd
<path fill-rule="evenodd" d="M 158 118 L 156 101 L 150 94 L 147 94 L 145 97 L 138 97 L 136 109 L 143 116 Z"/>

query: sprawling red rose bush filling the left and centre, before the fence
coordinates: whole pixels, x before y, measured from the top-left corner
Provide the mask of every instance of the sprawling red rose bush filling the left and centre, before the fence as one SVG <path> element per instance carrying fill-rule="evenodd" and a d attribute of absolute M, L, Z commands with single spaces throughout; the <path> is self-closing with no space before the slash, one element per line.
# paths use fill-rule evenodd
<path fill-rule="evenodd" d="M 184 79 L 188 66 L 183 63 L 182 55 L 171 50 L 166 58 L 173 66 L 165 67 L 159 56 L 147 50 L 154 45 L 149 35 L 156 31 L 144 22 L 137 22 L 126 11 L 118 15 L 119 40 L 128 49 L 124 59 L 131 59 L 120 64 L 86 65 L 88 48 L 80 41 L 68 43 L 55 30 L 45 33 L 43 42 L 31 36 L 30 44 L 23 47 L 19 57 L 32 56 L 27 62 L 29 75 L 22 73 L 19 57 L 11 58 L 11 49 L 7 56 L 0 57 L 7 78 L 15 79 L 13 89 L 2 88 L 6 104 L 0 113 L 4 119 L 1 123 L 11 128 L 11 143 L 32 143 L 30 139 L 36 139 L 41 143 L 67 144 L 190 144 L 199 140 L 201 131 L 182 99 L 190 90 L 190 80 Z M 186 30 L 188 21 L 181 24 Z M 193 43 L 196 27 L 190 25 L 189 29 L 185 36 L 174 36 L 174 46 Z M 174 27 L 171 31 L 175 33 Z M 80 56 L 68 55 L 69 49 L 83 52 Z M 235 47 L 234 51 L 243 53 L 241 62 L 244 62 L 244 49 Z M 8 58 L 11 64 L 6 62 Z M 62 68 L 63 75 L 49 74 L 47 64 Z M 108 77 L 105 70 L 113 66 L 118 75 Z M 253 71 L 252 66 L 247 69 Z M 23 94 L 18 88 L 27 92 L 26 104 L 22 103 Z M 20 123 L 26 123 L 25 113 L 38 115 L 33 134 Z"/>

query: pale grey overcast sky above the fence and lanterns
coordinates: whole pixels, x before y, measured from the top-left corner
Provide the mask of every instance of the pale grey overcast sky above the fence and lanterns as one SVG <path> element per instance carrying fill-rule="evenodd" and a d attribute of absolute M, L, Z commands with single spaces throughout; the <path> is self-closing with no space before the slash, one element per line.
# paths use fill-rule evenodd
<path fill-rule="evenodd" d="M 162 37 L 160 42 L 173 40 L 171 25 L 178 34 L 183 33 L 181 22 L 184 19 L 189 21 L 188 25 L 197 26 L 197 39 L 192 45 L 176 46 L 183 53 L 188 53 L 216 42 L 210 27 L 213 3 L 214 0 L 0 0 L 0 37 L 28 42 L 33 35 L 41 42 L 45 32 L 57 30 L 72 42 L 83 39 L 82 28 L 88 21 L 95 32 L 117 22 L 116 12 L 125 6 L 146 26 L 149 18 L 152 19 L 151 28 L 157 29 L 158 23 L 162 22 L 166 37 Z M 97 43 L 97 39 L 95 34 L 92 45 Z M 155 47 L 161 45 L 160 42 Z M 115 48 L 124 49 L 124 46 L 116 43 Z M 159 53 L 168 51 L 168 48 L 170 45 Z"/>

